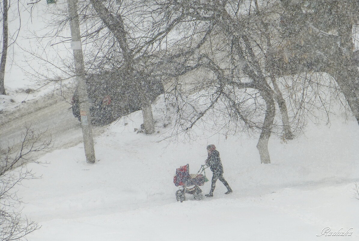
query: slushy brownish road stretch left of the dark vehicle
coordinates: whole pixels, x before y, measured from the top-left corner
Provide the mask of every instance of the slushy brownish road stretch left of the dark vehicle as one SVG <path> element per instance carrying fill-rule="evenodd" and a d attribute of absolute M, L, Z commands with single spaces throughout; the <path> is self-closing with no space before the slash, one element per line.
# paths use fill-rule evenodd
<path fill-rule="evenodd" d="M 47 96 L 30 100 L 0 116 L 0 143 L 19 147 L 26 127 L 45 132 L 46 140 L 52 140 L 55 149 L 74 146 L 82 141 L 78 120 L 71 112 L 71 105 L 59 96 Z M 94 134 L 102 127 L 94 128 Z M 64 138 L 65 137 L 65 138 Z"/>

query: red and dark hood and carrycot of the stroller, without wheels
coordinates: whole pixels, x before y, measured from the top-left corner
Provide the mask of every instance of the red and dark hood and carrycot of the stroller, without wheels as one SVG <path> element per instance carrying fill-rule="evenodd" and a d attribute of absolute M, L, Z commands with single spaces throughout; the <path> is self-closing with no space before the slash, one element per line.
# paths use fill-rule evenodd
<path fill-rule="evenodd" d="M 176 176 L 173 177 L 173 183 L 178 186 L 203 186 L 205 177 L 203 174 L 190 174 L 189 164 L 176 169 Z"/>

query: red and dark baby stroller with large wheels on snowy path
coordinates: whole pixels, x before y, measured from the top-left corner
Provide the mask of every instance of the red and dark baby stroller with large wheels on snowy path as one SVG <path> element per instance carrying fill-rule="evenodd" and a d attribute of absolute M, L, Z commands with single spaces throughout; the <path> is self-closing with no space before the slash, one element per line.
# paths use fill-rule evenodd
<path fill-rule="evenodd" d="M 174 185 L 176 187 L 180 186 L 180 189 L 176 191 L 176 199 L 181 203 L 186 200 L 186 193 L 193 195 L 195 200 L 201 200 L 203 195 L 199 186 L 203 186 L 204 183 L 208 181 L 206 173 L 204 172 L 205 165 L 201 166 L 197 174 L 190 174 L 189 169 L 188 164 L 177 168 L 176 176 L 173 177 Z M 202 172 L 204 172 L 204 174 L 202 174 Z"/>

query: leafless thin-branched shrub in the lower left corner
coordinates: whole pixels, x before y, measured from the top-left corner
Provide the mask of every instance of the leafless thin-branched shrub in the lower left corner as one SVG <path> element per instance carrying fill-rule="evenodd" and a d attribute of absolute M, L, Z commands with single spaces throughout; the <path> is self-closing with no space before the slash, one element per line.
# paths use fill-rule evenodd
<path fill-rule="evenodd" d="M 28 163 L 37 163 L 33 154 L 50 147 L 51 141 L 42 141 L 43 133 L 26 128 L 19 149 L 6 147 L 0 149 L 0 240 L 22 240 L 40 226 L 23 217 L 17 211 L 20 198 L 16 187 L 22 181 L 37 178 L 26 167 Z"/>

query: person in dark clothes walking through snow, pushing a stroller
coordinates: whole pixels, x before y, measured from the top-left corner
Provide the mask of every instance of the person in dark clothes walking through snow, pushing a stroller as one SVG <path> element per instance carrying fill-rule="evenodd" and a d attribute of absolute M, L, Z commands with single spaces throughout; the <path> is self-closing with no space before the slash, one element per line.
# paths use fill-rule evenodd
<path fill-rule="evenodd" d="M 206 164 L 211 169 L 213 176 L 212 176 L 212 186 L 211 190 L 209 191 L 209 194 L 206 194 L 206 197 L 213 197 L 213 191 L 216 187 L 216 181 L 219 179 L 219 181 L 223 182 L 224 186 L 227 187 L 228 191 L 225 194 L 230 194 L 232 192 L 232 189 L 228 185 L 228 182 L 223 177 L 223 166 L 221 159 L 219 158 L 219 151 L 216 150 L 215 145 L 208 145 L 207 146 L 208 151 L 208 158 L 206 160 Z"/>

